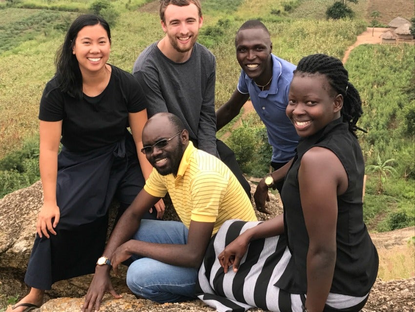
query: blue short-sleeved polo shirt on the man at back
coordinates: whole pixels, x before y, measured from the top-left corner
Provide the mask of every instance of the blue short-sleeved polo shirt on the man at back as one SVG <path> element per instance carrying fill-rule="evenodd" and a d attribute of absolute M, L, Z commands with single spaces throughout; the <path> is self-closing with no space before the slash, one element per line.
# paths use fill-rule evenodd
<path fill-rule="evenodd" d="M 288 105 L 288 91 L 295 65 L 276 57 L 272 57 L 272 81 L 269 90 L 261 91 L 254 81 L 241 71 L 238 91 L 248 94 L 252 106 L 267 127 L 268 142 L 272 146 L 274 162 L 287 162 L 295 154 L 299 136 L 288 119 L 285 109 Z"/>

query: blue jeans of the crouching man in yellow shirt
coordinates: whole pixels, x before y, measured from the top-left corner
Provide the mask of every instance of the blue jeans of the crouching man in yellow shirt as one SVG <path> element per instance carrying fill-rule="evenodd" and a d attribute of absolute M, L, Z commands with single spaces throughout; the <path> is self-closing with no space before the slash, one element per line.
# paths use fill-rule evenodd
<path fill-rule="evenodd" d="M 187 244 L 187 227 L 181 222 L 142 220 L 133 239 L 158 244 Z M 195 297 L 198 269 L 176 267 L 154 259 L 131 257 L 127 286 L 136 295 L 159 303 Z"/>

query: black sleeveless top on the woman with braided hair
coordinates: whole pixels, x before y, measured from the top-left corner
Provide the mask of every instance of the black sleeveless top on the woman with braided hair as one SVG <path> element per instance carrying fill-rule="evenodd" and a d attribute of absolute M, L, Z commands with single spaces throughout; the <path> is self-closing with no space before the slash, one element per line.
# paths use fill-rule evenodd
<path fill-rule="evenodd" d="M 309 237 L 300 201 L 298 169 L 302 156 L 314 146 L 330 149 L 343 164 L 349 178 L 346 192 L 337 197 L 337 257 L 330 292 L 364 296 L 376 279 L 378 256 L 363 222 L 365 165 L 359 143 L 348 128 L 348 123 L 340 117 L 318 133 L 300 141 L 284 181 L 281 197 L 284 204 L 285 235 L 292 257 L 289 267 L 275 286 L 290 293 L 307 292 Z"/>

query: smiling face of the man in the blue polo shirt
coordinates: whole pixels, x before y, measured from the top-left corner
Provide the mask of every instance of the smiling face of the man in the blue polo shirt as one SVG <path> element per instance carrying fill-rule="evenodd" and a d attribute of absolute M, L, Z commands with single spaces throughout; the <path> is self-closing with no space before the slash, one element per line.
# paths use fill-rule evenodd
<path fill-rule="evenodd" d="M 270 35 L 262 28 L 243 29 L 235 44 L 236 59 L 248 77 L 258 84 L 267 83 L 272 74 Z"/>

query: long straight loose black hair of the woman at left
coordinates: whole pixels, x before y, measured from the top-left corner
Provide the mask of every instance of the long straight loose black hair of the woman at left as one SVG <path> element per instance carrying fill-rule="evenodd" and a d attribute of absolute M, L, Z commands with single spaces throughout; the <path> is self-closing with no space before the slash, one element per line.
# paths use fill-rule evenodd
<path fill-rule="evenodd" d="M 70 96 L 82 98 L 82 74 L 78 60 L 72 53 L 78 32 L 85 26 L 100 24 L 105 29 L 111 43 L 111 31 L 108 23 L 94 14 L 83 14 L 72 22 L 62 46 L 56 52 L 55 65 L 56 76 L 59 81 L 59 89 Z"/>

